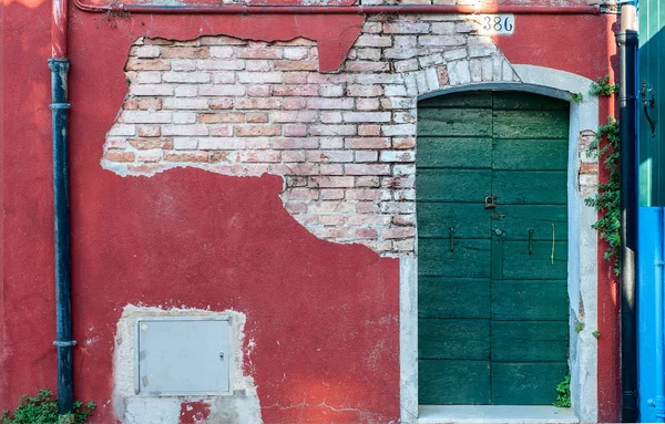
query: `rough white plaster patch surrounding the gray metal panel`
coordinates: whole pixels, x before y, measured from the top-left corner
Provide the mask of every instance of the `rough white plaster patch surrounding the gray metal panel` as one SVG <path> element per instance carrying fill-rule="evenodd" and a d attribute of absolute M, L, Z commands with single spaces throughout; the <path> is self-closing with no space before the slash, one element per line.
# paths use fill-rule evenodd
<path fill-rule="evenodd" d="M 142 317 L 228 317 L 233 325 L 234 351 L 228 394 L 217 396 L 149 396 L 135 393 L 135 320 Z M 137 307 L 127 304 L 117 322 L 113 366 L 113 407 L 125 424 L 177 424 L 181 405 L 204 402 L 209 405 L 206 423 L 262 423 L 260 405 L 252 375 L 243 373 L 246 317 L 234 310 Z"/>

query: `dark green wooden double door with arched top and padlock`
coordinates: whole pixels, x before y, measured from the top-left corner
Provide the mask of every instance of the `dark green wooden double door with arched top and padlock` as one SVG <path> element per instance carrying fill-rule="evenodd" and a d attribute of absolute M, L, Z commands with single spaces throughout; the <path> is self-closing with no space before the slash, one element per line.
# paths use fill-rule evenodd
<path fill-rule="evenodd" d="M 420 404 L 551 404 L 567 373 L 569 105 L 488 91 L 418 107 Z"/>

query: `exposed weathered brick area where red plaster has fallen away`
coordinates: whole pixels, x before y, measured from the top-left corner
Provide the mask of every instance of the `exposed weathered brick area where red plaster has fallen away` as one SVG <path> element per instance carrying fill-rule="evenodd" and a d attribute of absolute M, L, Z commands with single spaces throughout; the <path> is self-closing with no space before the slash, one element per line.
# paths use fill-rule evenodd
<path fill-rule="evenodd" d="M 339 73 L 317 58 L 305 39 L 136 41 L 103 166 L 280 175 L 285 207 L 317 237 L 412 252 L 417 96 L 516 75 L 458 15 L 374 17 Z"/>

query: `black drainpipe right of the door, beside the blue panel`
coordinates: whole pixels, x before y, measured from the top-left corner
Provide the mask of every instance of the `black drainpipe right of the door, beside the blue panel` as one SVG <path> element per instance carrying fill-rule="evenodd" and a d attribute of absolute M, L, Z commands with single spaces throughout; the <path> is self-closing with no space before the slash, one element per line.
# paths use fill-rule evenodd
<path fill-rule="evenodd" d="M 625 6 L 622 8 L 626 8 Z M 623 23 L 623 22 L 622 22 Z M 626 25 L 626 27 L 630 27 Z M 637 321 L 635 269 L 637 263 L 637 145 L 635 58 L 637 31 L 616 33 L 618 43 L 618 125 L 621 143 L 621 418 L 634 423 L 637 411 Z"/>

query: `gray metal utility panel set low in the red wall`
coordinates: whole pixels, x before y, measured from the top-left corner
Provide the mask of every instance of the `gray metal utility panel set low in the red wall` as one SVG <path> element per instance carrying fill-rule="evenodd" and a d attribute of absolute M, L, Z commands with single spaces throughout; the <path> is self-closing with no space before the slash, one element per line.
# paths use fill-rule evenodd
<path fill-rule="evenodd" d="M 141 318 L 136 333 L 139 394 L 228 392 L 233 355 L 229 319 Z"/>

